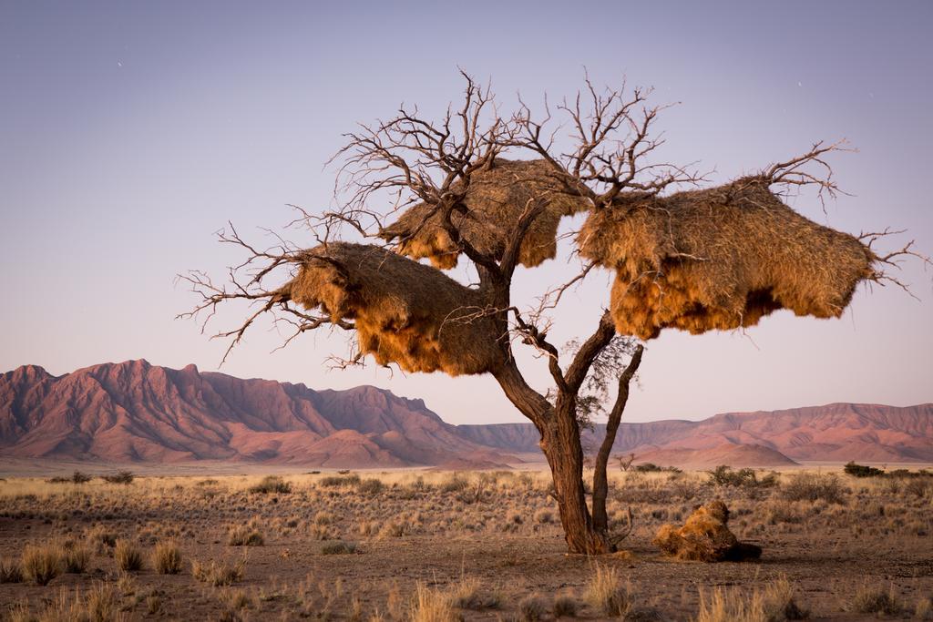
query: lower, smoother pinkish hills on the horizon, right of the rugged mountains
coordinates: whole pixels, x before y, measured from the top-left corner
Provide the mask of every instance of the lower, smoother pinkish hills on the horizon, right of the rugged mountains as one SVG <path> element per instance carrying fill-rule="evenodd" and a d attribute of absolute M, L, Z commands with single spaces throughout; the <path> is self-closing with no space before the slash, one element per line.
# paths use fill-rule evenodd
<path fill-rule="evenodd" d="M 490 447 L 537 450 L 537 433 L 530 423 L 460 425 L 457 429 Z M 597 425 L 595 434 L 586 436 L 595 446 L 596 435 L 603 434 L 604 427 Z M 711 454 L 724 446 L 759 446 L 795 461 L 929 463 L 933 462 L 933 404 L 906 408 L 829 404 L 727 413 L 700 422 L 622 423 L 613 450 L 634 452 L 639 458 L 661 449 L 681 452 L 668 454 L 674 457 L 687 456 L 683 453 L 687 450 Z"/>

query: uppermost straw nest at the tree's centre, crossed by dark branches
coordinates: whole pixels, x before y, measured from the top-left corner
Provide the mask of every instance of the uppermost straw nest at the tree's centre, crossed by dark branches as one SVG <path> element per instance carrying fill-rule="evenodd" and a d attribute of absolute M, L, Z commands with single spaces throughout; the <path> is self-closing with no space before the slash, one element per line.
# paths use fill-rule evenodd
<path fill-rule="evenodd" d="M 457 191 L 456 185 L 452 188 Z M 538 200 L 547 201 L 522 241 L 519 261 L 537 266 L 557 254 L 557 228 L 561 217 L 589 208 L 588 200 L 575 194 L 568 178 L 543 159 L 494 159 L 470 178 L 463 211 L 451 214 L 451 223 L 466 242 L 480 253 L 501 257 L 525 209 Z M 428 257 L 440 269 L 457 265 L 459 249 L 441 226 L 435 206 L 411 206 L 392 225 L 383 228 L 384 240 L 398 242 L 398 252 L 415 259 Z"/>

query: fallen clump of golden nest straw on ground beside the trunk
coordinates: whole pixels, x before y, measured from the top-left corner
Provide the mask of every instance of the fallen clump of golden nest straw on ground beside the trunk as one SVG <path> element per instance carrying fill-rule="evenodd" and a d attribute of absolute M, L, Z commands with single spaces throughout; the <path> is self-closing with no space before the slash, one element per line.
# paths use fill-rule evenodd
<path fill-rule="evenodd" d="M 721 501 L 698 507 L 683 527 L 662 525 L 652 544 L 678 560 L 757 560 L 761 547 L 739 542 L 729 527 L 729 508 Z"/>

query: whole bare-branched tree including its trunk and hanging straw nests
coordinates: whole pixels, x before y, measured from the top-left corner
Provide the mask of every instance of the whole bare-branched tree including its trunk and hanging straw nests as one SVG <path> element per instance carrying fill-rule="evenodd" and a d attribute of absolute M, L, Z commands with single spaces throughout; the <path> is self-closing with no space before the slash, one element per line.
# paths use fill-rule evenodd
<path fill-rule="evenodd" d="M 293 329 L 285 344 L 323 325 L 355 331 L 356 350 L 341 366 L 361 364 L 371 354 L 381 365 L 407 371 L 491 374 L 541 436 L 569 550 L 605 553 L 622 537 L 610 532 L 606 517 L 606 467 L 645 352 L 635 337 L 652 339 L 666 327 L 703 332 L 753 325 L 784 307 L 838 315 L 856 283 L 893 281 L 877 268 L 912 251 L 908 245 L 877 256 L 871 242 L 886 231 L 855 238 L 820 228 L 771 192 L 771 187 L 814 185 L 821 198 L 835 196 L 838 188 L 824 157 L 842 144 L 817 143 L 799 158 L 725 187 L 665 195 L 704 177 L 690 167 L 651 161 L 663 143 L 651 136 L 663 106 L 648 104 L 649 90 L 624 85 L 596 90 L 587 78 L 585 89 L 553 112 L 545 104 L 536 117 L 521 103 L 505 117 L 488 87 L 464 78 L 462 104 L 448 108 L 439 121 L 403 106 L 394 117 L 346 135 L 346 145 L 332 160 L 340 165 L 339 208 L 322 214 L 296 208 L 295 224 L 311 231 L 313 248 L 279 237 L 272 249 L 258 249 L 230 225 L 220 241 L 242 247 L 244 263 L 230 269 L 227 284 L 218 285 L 202 272 L 182 275 L 202 297 L 184 315 L 205 312 L 210 319 L 219 304 L 231 300 L 255 305 L 243 324 L 216 335 L 230 339 L 228 354 L 259 317 L 271 314 Z M 568 136 L 560 133 L 564 128 L 570 129 Z M 562 217 L 581 212 L 588 221 L 578 234 L 578 249 L 589 260 L 536 306 L 519 309 L 512 301 L 516 268 L 553 257 Z M 729 227 L 717 224 L 726 217 L 720 214 L 731 214 Z M 760 214 L 790 219 L 795 235 L 816 249 L 806 260 L 821 262 L 821 270 L 810 272 L 831 279 L 797 283 L 801 274 L 809 278 L 810 264 L 795 264 L 783 276 L 767 272 L 786 257 L 766 257 L 770 268 L 759 270 L 752 260 L 758 251 L 748 248 L 759 244 L 737 239 L 734 226 L 783 226 Z M 759 220 L 745 223 L 746 216 Z M 644 230 L 618 229 L 632 223 Z M 676 231 L 671 223 L 680 223 Z M 660 242 L 646 233 L 649 229 L 661 232 Z M 606 239 L 617 232 L 634 235 L 639 243 L 665 248 L 673 243 L 673 250 L 634 262 L 633 268 L 631 249 Z M 683 240 L 670 242 L 675 232 Z M 341 242 L 347 234 L 369 243 Z M 735 244 L 725 256 L 697 242 L 716 236 L 726 246 Z M 774 245 L 785 242 L 794 243 Z M 802 261 L 799 249 L 793 250 L 787 261 Z M 462 256 L 476 270 L 477 285 L 467 287 L 443 273 Z M 418 261 L 425 257 L 434 267 Z M 562 352 L 548 339 L 550 311 L 598 266 L 617 270 L 610 308 L 587 339 Z M 525 380 L 513 352 L 519 345 L 546 359 L 552 381 L 547 392 Z M 580 431 L 609 401 L 588 505 Z"/>

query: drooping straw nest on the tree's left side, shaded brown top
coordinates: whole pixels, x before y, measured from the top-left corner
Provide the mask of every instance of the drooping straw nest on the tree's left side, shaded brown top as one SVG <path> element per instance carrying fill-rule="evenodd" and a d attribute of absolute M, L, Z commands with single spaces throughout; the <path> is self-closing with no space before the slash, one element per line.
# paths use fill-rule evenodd
<path fill-rule="evenodd" d="M 336 242 L 308 252 L 289 296 L 331 321 L 353 321 L 360 352 L 411 372 L 480 374 L 499 366 L 482 294 L 379 246 Z"/>

